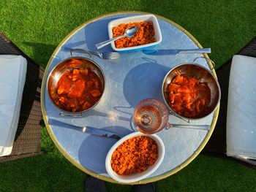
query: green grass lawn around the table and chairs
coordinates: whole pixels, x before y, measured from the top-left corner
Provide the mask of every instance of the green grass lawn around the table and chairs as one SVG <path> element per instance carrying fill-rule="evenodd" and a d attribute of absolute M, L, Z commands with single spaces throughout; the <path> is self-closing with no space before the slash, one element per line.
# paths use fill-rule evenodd
<path fill-rule="evenodd" d="M 173 20 L 189 31 L 220 66 L 256 31 L 255 1 L 1 0 L 0 31 L 46 66 L 53 50 L 74 28 L 108 12 L 137 10 Z M 45 154 L 0 164 L 0 191 L 83 191 L 87 174 L 64 158 L 42 123 Z M 157 191 L 256 191 L 256 172 L 227 159 L 198 155 L 180 172 L 157 182 Z M 129 185 L 107 183 L 108 191 Z"/>

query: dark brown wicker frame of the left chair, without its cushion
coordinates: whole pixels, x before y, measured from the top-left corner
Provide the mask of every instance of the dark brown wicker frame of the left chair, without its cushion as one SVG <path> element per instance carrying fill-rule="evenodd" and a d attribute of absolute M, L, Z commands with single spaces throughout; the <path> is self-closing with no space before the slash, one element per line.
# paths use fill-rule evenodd
<path fill-rule="evenodd" d="M 35 64 L 10 39 L 0 31 L 0 55 L 22 55 L 27 60 L 26 82 L 20 107 L 18 129 L 13 143 L 12 153 L 0 157 L 1 161 L 10 161 L 42 153 L 40 150 L 40 88 L 44 70 Z"/>

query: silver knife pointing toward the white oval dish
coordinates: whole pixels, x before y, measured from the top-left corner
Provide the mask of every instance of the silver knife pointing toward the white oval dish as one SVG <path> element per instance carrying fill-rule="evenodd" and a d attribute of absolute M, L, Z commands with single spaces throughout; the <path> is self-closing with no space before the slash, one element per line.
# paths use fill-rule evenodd
<path fill-rule="evenodd" d="M 116 139 L 116 140 L 121 139 L 121 137 L 118 136 L 118 134 L 113 133 L 112 131 L 103 130 L 101 128 L 94 128 L 94 127 L 91 127 L 91 126 L 84 126 L 84 127 L 74 126 L 74 125 L 64 123 L 64 122 L 61 122 L 59 120 L 55 120 L 55 119 L 51 119 L 51 118 L 48 120 L 48 122 L 49 122 L 50 125 L 53 125 L 53 126 L 61 126 L 61 127 L 65 127 L 65 128 L 72 128 L 72 129 L 75 129 L 75 130 L 78 130 L 78 131 L 83 131 L 83 133 L 93 134 L 93 135 L 96 135 L 96 136 L 99 136 L 99 137 L 106 137 L 108 139 Z"/>

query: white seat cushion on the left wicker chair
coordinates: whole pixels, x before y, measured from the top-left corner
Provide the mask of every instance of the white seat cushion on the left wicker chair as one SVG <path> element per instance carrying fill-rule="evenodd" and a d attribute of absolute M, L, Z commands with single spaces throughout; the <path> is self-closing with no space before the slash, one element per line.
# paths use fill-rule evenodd
<path fill-rule="evenodd" d="M 0 55 L 0 156 L 10 155 L 20 117 L 26 59 Z"/>

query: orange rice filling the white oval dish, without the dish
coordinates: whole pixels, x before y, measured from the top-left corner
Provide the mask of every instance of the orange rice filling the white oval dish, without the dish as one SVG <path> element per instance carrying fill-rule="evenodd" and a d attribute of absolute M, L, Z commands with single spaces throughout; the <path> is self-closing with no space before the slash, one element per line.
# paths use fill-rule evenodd
<path fill-rule="evenodd" d="M 153 166 L 157 158 L 157 143 L 154 139 L 138 136 L 116 148 L 111 158 L 111 167 L 117 174 L 135 174 Z"/>

